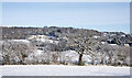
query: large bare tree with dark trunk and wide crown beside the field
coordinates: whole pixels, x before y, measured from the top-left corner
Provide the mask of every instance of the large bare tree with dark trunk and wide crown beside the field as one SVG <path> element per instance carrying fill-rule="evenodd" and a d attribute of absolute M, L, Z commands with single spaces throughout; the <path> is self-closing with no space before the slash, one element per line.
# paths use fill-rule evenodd
<path fill-rule="evenodd" d="M 91 41 L 92 37 L 89 36 L 89 35 L 81 35 L 79 34 L 79 36 L 76 36 L 74 35 L 74 38 L 70 38 L 69 37 L 69 45 L 70 45 L 70 48 L 76 51 L 78 54 L 79 54 L 79 58 L 78 58 L 78 65 L 84 65 L 82 63 L 82 56 L 84 54 L 87 54 L 87 55 L 95 55 L 92 52 L 91 52 L 91 45 L 94 44 L 94 42 Z"/>

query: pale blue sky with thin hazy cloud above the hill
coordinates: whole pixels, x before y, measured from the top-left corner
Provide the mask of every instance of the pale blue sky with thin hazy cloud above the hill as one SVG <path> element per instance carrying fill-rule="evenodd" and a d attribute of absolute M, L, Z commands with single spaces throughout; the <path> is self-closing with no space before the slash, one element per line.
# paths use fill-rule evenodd
<path fill-rule="evenodd" d="M 129 2 L 3 2 L 3 25 L 130 32 Z"/>

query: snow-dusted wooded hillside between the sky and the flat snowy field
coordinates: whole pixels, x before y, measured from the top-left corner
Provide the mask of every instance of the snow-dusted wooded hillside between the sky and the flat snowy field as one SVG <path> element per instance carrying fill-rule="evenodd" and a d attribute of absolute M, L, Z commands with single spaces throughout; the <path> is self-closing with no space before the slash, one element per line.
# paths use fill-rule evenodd
<path fill-rule="evenodd" d="M 132 35 L 74 27 L 2 27 L 2 65 L 130 66 Z"/>

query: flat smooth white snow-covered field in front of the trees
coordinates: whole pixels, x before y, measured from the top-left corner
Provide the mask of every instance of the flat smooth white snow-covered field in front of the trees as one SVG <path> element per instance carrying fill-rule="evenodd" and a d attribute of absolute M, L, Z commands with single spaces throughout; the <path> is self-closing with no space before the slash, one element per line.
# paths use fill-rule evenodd
<path fill-rule="evenodd" d="M 11 65 L 0 69 L 2 76 L 130 76 L 130 67 L 113 66 Z"/>

